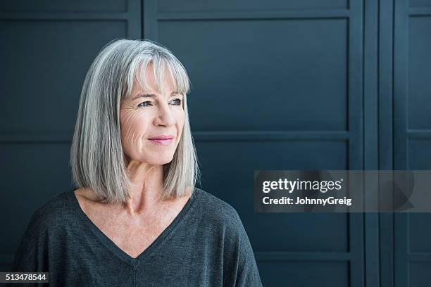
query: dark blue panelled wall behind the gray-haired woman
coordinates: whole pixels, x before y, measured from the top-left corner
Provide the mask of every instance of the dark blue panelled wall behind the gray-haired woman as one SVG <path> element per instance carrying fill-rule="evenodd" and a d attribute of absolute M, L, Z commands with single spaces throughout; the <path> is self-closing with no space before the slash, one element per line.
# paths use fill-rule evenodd
<path fill-rule="evenodd" d="M 264 286 L 430 286 L 430 214 L 254 214 L 254 170 L 431 170 L 430 0 L 3 1 L 0 271 L 72 187 L 85 72 L 154 39 L 192 80 L 203 189 L 232 204 Z"/>

